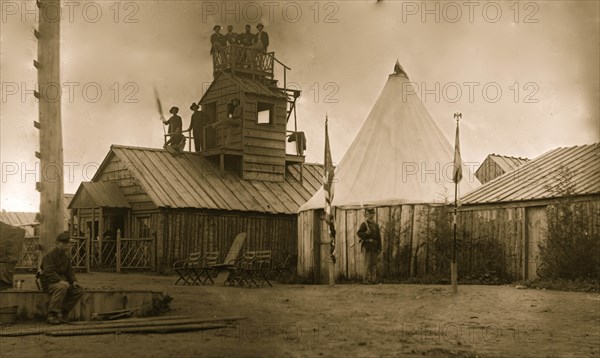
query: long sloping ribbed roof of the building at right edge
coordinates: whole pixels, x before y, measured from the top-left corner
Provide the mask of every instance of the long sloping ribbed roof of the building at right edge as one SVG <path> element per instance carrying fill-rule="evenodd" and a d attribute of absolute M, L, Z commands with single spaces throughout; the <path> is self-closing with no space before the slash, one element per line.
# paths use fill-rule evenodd
<path fill-rule="evenodd" d="M 574 195 L 600 194 L 600 143 L 556 148 L 467 193 L 463 204 L 549 199 L 562 167 L 574 173 Z"/>

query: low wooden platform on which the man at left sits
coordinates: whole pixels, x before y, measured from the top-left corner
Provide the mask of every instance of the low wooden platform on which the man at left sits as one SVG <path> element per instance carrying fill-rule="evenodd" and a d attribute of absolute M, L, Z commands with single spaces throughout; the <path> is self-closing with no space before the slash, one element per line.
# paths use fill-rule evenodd
<path fill-rule="evenodd" d="M 133 316 L 147 316 L 153 311 L 155 302 L 162 298 L 161 292 L 129 290 L 86 290 L 79 303 L 73 308 L 71 320 L 87 321 L 93 313 L 109 312 L 125 308 L 141 309 Z M 45 319 L 50 296 L 38 290 L 5 290 L 0 292 L 0 306 L 18 306 L 19 320 Z"/>

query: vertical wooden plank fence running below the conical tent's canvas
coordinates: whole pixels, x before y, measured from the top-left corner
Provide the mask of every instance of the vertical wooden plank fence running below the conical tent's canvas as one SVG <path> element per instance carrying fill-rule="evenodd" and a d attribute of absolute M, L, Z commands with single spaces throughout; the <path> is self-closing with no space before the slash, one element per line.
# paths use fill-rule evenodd
<path fill-rule="evenodd" d="M 599 202 L 583 202 L 587 212 L 600 212 Z M 540 205 L 542 215 L 552 206 Z M 529 207 L 496 206 L 462 208 L 458 214 L 457 262 L 461 279 L 516 280 L 533 277 L 527 265 L 535 267 L 539 238 L 545 237 L 543 225 L 535 230 L 536 242 L 529 233 Z M 597 219 L 589 215 L 589 227 Z M 361 209 L 337 209 L 338 279 L 359 280 L 364 275 L 364 260 L 356 232 L 364 220 Z M 452 208 L 440 205 L 397 205 L 376 208 L 381 227 L 382 253 L 377 268 L 380 278 L 403 280 L 409 277 L 450 277 L 452 258 Z M 596 220 L 596 221 L 594 221 Z M 317 221 L 316 223 L 314 221 Z M 531 225 L 530 225 L 531 226 Z M 592 229 L 590 229 L 592 230 Z M 306 211 L 298 216 L 298 274 L 323 282 L 328 262 L 319 250 L 329 242 L 323 211 Z M 527 240 L 531 241 L 528 242 Z M 533 266 L 532 266 L 533 263 Z"/>

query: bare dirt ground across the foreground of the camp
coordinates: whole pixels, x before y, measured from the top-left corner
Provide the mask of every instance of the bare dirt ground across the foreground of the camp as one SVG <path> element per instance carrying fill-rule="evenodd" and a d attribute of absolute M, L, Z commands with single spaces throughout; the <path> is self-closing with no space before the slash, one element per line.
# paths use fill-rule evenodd
<path fill-rule="evenodd" d="M 23 276 L 30 278 L 31 276 Z M 16 277 L 19 278 L 19 277 Z M 600 296 L 513 286 L 174 286 L 80 274 L 87 288 L 167 291 L 167 315 L 245 316 L 213 331 L 0 338 L 7 357 L 599 357 Z M 32 325 L 33 323 L 27 323 Z"/>

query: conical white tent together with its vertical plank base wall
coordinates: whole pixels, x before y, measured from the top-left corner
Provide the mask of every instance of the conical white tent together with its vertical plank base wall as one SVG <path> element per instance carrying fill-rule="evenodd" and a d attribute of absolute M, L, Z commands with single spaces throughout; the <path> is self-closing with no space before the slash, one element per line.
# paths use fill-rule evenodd
<path fill-rule="evenodd" d="M 412 275 L 427 262 L 421 259 L 423 250 L 419 251 L 428 240 L 427 215 L 432 204 L 454 201 L 452 143 L 397 64 L 335 172 L 336 276 L 363 275 L 356 237 L 363 206 L 377 209 L 381 226 L 391 223 L 401 232 L 384 238 L 387 260 L 380 262 L 378 270 Z M 459 196 L 480 185 L 468 167 L 463 164 L 462 169 Z M 324 205 L 321 188 L 298 215 L 298 272 L 322 282 L 330 267 L 326 263 L 329 239 L 321 216 Z"/>

